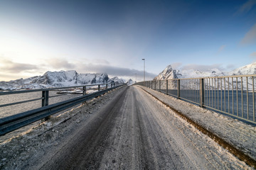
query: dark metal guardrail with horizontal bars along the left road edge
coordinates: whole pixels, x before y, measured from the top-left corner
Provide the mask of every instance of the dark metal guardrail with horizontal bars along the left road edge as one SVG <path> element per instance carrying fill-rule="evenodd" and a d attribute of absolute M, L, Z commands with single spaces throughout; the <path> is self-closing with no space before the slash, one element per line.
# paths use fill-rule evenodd
<path fill-rule="evenodd" d="M 110 88 L 108 88 L 108 85 L 110 85 Z M 72 86 L 72 87 L 60 87 L 60 88 L 53 88 L 53 89 L 35 89 L 35 90 L 23 90 L 23 91 L 6 91 L 6 92 L 0 92 L 1 95 L 10 95 L 10 94 L 23 94 L 23 93 L 29 93 L 29 92 L 35 92 L 35 91 L 42 91 L 42 97 L 41 98 L 35 98 L 27 101 L 19 101 L 15 103 L 9 103 L 0 105 L 0 107 L 5 106 L 11 106 L 19 103 L 26 103 L 30 101 L 36 101 L 41 100 L 42 101 L 42 107 L 36 108 L 31 111 L 25 111 L 23 113 L 18 113 L 16 115 L 11 115 L 5 118 L 0 118 L 0 136 L 5 135 L 8 132 L 14 131 L 18 128 L 22 128 L 23 126 L 26 126 L 28 124 L 34 123 L 38 120 L 42 120 L 43 118 L 48 118 L 48 116 L 53 115 L 55 113 L 58 113 L 60 111 L 63 111 L 67 108 L 73 107 L 79 103 L 85 102 L 87 100 L 90 100 L 92 98 L 95 98 L 97 96 L 100 96 L 102 94 L 105 94 L 107 91 L 111 91 L 112 89 L 115 89 L 119 86 L 124 86 L 125 84 L 93 84 L 93 85 L 86 85 L 86 86 Z M 86 94 L 86 89 L 88 86 L 98 86 L 97 92 L 92 94 Z M 101 86 L 104 86 L 102 89 Z M 62 101 L 59 103 L 54 103 L 51 105 L 48 105 L 48 99 L 50 97 L 56 97 L 56 96 L 62 96 L 56 95 L 56 96 L 49 96 L 49 91 L 58 90 L 58 89 L 70 89 L 70 88 L 82 88 L 82 96 L 69 99 L 67 101 Z"/>

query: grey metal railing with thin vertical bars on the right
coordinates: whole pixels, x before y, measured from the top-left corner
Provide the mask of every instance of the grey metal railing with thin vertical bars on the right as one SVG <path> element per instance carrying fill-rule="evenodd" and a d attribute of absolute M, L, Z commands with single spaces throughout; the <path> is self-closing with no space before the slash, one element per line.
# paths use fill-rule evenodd
<path fill-rule="evenodd" d="M 146 86 L 255 124 L 255 77 L 239 75 L 168 79 L 142 81 L 135 85 Z"/>

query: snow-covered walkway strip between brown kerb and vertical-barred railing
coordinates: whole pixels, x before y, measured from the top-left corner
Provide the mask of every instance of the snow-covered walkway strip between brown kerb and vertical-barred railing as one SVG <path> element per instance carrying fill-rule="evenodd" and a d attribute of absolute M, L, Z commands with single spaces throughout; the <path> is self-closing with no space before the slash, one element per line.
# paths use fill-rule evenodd
<path fill-rule="evenodd" d="M 237 149 L 245 152 L 245 154 L 253 159 L 256 159 L 256 127 L 226 115 L 208 111 L 206 108 L 195 106 L 186 101 L 178 100 L 159 91 L 154 91 L 144 86 L 140 87 L 149 91 L 150 94 L 164 101 L 164 103 L 169 104 L 169 106 L 181 111 L 181 113 L 202 125 L 210 132 L 214 132 L 215 135 L 218 135 L 226 142 L 237 147 Z"/>

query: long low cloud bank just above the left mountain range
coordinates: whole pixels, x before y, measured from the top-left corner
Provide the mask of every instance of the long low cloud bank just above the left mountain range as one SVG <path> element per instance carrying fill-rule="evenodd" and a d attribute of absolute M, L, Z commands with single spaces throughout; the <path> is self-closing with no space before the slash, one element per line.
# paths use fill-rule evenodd
<path fill-rule="evenodd" d="M 137 69 L 129 69 L 124 67 L 114 67 L 105 60 L 97 60 L 97 64 L 92 62 L 69 62 L 65 59 L 52 58 L 44 60 L 46 64 L 34 65 L 12 62 L 11 60 L 0 60 L 0 81 L 9 81 L 11 79 L 20 79 L 39 76 L 46 71 L 76 70 L 78 73 L 107 73 L 110 77 L 120 77 L 126 79 L 143 79 L 143 71 Z M 103 64 L 101 64 L 103 63 Z M 146 79 L 153 79 L 156 74 L 146 72 Z"/>

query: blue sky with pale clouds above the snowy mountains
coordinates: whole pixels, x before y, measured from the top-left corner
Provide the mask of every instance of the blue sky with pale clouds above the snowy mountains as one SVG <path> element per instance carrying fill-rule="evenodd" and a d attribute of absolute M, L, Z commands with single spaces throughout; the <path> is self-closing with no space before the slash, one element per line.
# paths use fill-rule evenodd
<path fill-rule="evenodd" d="M 75 69 L 152 79 L 256 61 L 256 0 L 0 0 L 0 81 Z"/>

